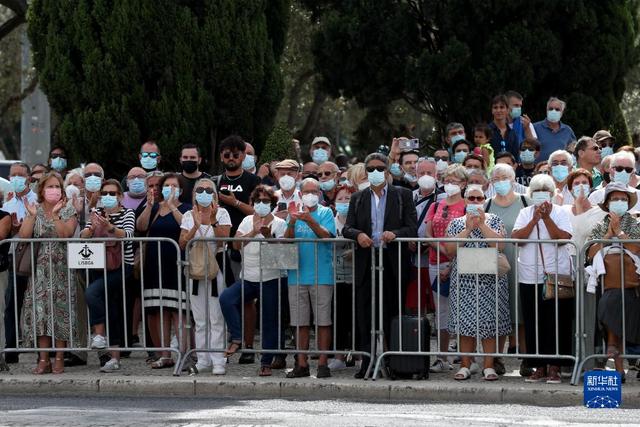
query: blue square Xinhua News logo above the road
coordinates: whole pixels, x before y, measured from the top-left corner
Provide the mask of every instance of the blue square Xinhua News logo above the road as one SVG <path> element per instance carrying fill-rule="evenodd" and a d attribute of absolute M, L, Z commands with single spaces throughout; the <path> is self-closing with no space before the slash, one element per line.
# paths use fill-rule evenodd
<path fill-rule="evenodd" d="M 622 405 L 622 378 L 616 371 L 589 371 L 584 374 L 584 406 L 619 408 Z"/>

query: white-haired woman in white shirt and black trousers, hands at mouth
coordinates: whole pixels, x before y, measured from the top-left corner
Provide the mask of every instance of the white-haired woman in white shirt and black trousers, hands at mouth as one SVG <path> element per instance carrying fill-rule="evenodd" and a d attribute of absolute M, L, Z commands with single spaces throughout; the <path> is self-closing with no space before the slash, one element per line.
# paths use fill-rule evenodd
<path fill-rule="evenodd" d="M 533 205 L 524 208 L 518 214 L 511 232 L 512 238 L 571 239 L 572 228 L 567 211 L 551 203 L 555 190 L 556 183 L 550 176 L 533 177 L 529 184 L 529 196 Z M 572 274 L 571 258 L 566 245 L 556 247 L 553 243 L 533 242 L 520 245 L 518 282 L 528 354 L 571 354 L 573 299 L 545 300 L 542 297 L 547 275 L 553 278 L 556 274 Z M 529 363 L 536 371 L 526 379 L 527 382 L 546 381 L 549 384 L 559 384 L 560 366 L 566 365 L 567 360 L 540 357 L 529 359 Z"/>

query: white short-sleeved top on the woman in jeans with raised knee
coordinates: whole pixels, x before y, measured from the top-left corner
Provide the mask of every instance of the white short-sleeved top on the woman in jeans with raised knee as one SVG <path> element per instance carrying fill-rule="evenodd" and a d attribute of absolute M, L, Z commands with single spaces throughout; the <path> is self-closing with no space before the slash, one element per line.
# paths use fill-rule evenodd
<path fill-rule="evenodd" d="M 249 234 L 253 230 L 253 218 L 254 215 L 249 215 L 245 219 L 242 220 L 240 225 L 238 226 L 238 233 L 243 235 Z M 280 238 L 284 236 L 284 232 L 287 229 L 287 223 L 276 216 L 273 217 L 271 223 L 269 223 L 271 227 L 271 236 L 269 238 Z M 261 233 L 256 234 L 255 239 L 264 239 Z M 240 273 L 240 277 L 244 280 L 248 280 L 250 282 L 263 282 L 277 279 L 280 277 L 280 270 L 277 269 L 267 269 L 260 268 L 260 246 L 267 245 L 268 243 L 259 243 L 252 242 L 245 245 L 242 252 L 242 272 Z M 260 271 L 262 270 L 262 275 Z"/>

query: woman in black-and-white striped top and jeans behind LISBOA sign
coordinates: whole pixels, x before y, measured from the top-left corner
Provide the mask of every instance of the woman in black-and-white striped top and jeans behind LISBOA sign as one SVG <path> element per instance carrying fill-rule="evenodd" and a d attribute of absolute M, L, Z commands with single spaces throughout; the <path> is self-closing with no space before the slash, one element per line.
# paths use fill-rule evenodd
<path fill-rule="evenodd" d="M 83 239 L 117 237 L 133 237 L 135 231 L 135 213 L 131 209 L 122 206 L 122 187 L 114 179 L 104 181 L 99 189 L 102 208 L 93 211 L 87 220 L 87 224 L 80 233 Z M 89 284 L 85 293 L 87 307 L 89 308 L 89 324 L 93 328 L 91 347 L 103 349 L 107 347 L 121 347 L 125 345 L 126 325 L 122 311 L 125 298 L 123 280 L 128 283 L 133 272 L 133 242 L 124 242 L 121 249 L 120 243 L 107 242 L 106 246 L 114 246 L 119 255 L 118 266 L 112 266 L 105 274 L 102 270 L 94 270 L 89 273 Z M 124 257 L 120 255 L 123 250 Z M 109 268 L 109 267 L 107 267 Z M 106 286 L 105 286 L 106 285 Z M 106 288 L 106 294 L 105 294 Z M 108 301 L 108 305 L 106 303 Z M 109 342 L 106 336 L 106 313 L 109 313 Z M 101 372 L 117 372 L 120 370 L 120 352 L 112 351 L 111 359 L 100 368 Z"/>

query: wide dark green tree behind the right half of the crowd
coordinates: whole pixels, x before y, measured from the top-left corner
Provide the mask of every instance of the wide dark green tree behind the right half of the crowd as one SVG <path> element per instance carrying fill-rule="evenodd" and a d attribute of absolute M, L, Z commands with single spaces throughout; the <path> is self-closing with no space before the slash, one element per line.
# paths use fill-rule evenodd
<path fill-rule="evenodd" d="M 515 89 L 534 120 L 559 96 L 577 135 L 628 138 L 619 103 L 638 62 L 635 1 L 305 4 L 320 22 L 315 65 L 332 96 L 376 111 L 402 99 L 442 127 L 489 120 L 491 98 Z"/>

